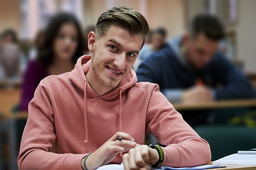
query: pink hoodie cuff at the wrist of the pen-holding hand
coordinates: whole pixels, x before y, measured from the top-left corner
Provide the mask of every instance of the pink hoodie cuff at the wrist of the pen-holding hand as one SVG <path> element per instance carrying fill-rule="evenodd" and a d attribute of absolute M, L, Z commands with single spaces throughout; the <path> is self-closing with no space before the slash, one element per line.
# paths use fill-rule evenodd
<path fill-rule="evenodd" d="M 81 161 L 87 154 L 68 154 L 63 161 L 63 170 L 82 170 Z"/>

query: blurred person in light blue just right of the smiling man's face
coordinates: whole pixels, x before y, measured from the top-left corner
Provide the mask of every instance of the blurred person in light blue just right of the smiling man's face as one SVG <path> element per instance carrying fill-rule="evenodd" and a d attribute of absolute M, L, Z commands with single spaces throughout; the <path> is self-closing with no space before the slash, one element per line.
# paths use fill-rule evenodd
<path fill-rule="evenodd" d="M 164 28 L 156 28 L 151 35 L 151 42 L 149 44 L 145 44 L 142 47 L 142 50 L 139 51 L 137 60 L 134 63 L 134 70 L 137 70 L 139 64 L 141 64 L 146 57 L 149 57 L 152 53 L 161 50 L 161 48 L 164 47 L 165 42 L 166 30 Z"/>

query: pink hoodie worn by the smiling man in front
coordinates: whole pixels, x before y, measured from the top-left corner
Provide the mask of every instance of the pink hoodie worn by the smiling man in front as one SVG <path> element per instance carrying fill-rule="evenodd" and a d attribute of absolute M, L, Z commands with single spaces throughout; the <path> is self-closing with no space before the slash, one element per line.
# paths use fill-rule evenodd
<path fill-rule="evenodd" d="M 182 119 L 159 91 L 137 83 L 133 70 L 117 89 L 98 96 L 85 79 L 90 56 L 82 56 L 72 72 L 43 79 L 28 106 L 18 167 L 23 169 L 82 169 L 81 159 L 116 132 L 144 144 L 151 132 L 164 147 L 165 166 L 196 166 L 210 162 L 206 140 Z M 111 164 L 120 164 L 117 156 Z"/>

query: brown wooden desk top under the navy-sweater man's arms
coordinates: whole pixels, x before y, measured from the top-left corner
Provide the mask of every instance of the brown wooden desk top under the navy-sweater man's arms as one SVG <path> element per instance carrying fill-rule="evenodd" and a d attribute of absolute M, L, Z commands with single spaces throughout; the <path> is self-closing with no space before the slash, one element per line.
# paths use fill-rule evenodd
<path fill-rule="evenodd" d="M 246 100 L 210 101 L 202 103 L 173 103 L 177 111 L 211 108 L 238 108 L 256 106 L 256 98 Z M 255 169 L 256 170 L 256 169 Z"/>

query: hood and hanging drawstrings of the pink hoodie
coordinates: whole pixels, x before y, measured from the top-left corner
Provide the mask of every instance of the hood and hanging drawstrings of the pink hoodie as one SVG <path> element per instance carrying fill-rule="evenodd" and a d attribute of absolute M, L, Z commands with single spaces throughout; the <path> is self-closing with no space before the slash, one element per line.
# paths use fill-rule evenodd
<path fill-rule="evenodd" d="M 84 142 L 89 142 L 88 140 L 88 128 L 87 128 L 87 104 L 86 101 L 89 98 L 99 98 L 105 101 L 114 101 L 119 98 L 119 131 L 122 132 L 122 93 L 127 90 L 129 87 L 134 86 L 137 83 L 136 73 L 133 69 L 130 70 L 127 77 L 125 77 L 118 84 L 117 88 L 110 91 L 107 94 L 99 96 L 93 89 L 90 87 L 85 74 L 90 69 L 91 64 L 91 55 L 84 55 L 78 59 L 78 62 L 75 64 L 75 68 L 70 72 L 69 79 L 76 85 L 81 91 L 84 91 L 84 117 L 85 117 L 85 140 Z"/>

